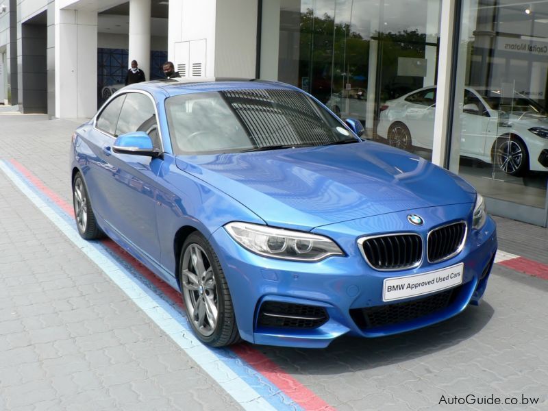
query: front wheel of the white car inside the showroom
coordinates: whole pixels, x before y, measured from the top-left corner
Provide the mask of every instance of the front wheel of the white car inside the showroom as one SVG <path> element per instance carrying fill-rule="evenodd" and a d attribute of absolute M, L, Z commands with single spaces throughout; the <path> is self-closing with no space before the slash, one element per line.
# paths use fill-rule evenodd
<path fill-rule="evenodd" d="M 505 173 L 521 176 L 529 171 L 529 152 L 521 138 L 500 137 L 495 142 L 495 162 Z"/>

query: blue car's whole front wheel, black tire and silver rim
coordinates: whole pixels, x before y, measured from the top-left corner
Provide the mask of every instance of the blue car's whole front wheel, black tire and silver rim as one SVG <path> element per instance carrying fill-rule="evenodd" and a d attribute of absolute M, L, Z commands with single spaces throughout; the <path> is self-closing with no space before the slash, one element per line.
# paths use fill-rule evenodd
<path fill-rule="evenodd" d="M 240 340 L 232 297 L 219 259 L 195 232 L 182 247 L 179 281 L 188 322 L 202 343 L 224 347 Z"/>

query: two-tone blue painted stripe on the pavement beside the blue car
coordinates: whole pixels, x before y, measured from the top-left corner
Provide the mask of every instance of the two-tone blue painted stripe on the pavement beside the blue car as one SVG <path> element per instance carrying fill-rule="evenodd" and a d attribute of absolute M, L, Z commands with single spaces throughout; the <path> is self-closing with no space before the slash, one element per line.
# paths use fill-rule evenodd
<path fill-rule="evenodd" d="M 15 167 L 0 160 L 0 169 L 58 229 L 118 285 L 216 382 L 247 410 L 302 410 L 282 390 L 229 349 L 212 349 L 192 333 L 184 310 L 166 297 L 146 277 L 100 241 L 82 239 L 72 216 L 30 182 Z"/>

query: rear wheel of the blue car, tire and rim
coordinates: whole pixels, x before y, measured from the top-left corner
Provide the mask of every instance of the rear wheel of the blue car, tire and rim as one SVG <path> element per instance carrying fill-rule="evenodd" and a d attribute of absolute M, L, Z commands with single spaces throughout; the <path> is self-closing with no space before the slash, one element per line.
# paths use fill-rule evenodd
<path fill-rule="evenodd" d="M 103 232 L 97 225 L 88 190 L 80 173 L 76 173 L 73 179 L 73 206 L 76 227 L 80 236 L 86 240 L 101 238 Z"/>

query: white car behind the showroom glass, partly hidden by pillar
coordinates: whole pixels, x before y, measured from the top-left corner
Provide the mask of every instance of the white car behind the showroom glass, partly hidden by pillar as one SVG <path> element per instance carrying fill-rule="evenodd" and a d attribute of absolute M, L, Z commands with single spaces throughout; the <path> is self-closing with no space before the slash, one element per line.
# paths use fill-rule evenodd
<path fill-rule="evenodd" d="M 435 111 L 435 86 L 386 101 L 377 136 L 401 149 L 432 149 Z M 461 155 L 495 163 L 510 175 L 548 171 L 548 117 L 535 101 L 466 87 L 460 121 Z"/>

